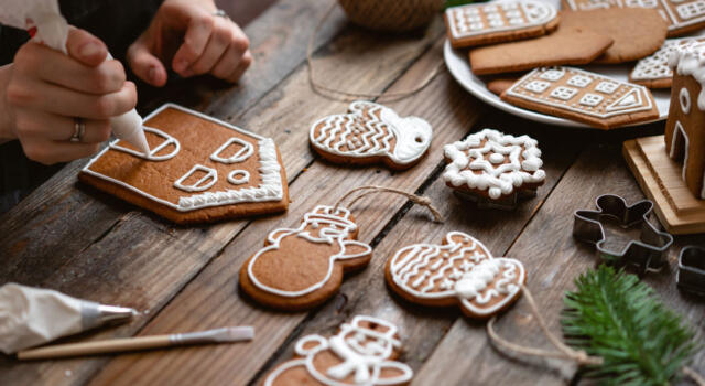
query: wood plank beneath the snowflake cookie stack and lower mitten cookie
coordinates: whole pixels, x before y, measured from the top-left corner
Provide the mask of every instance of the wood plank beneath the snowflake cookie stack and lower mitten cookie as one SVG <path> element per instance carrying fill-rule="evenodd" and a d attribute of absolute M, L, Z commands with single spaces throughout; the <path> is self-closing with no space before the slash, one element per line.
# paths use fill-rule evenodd
<path fill-rule="evenodd" d="M 444 111 L 443 108 L 438 108 Z M 346 281 L 338 296 L 337 301 L 329 302 L 321 310 L 317 310 L 311 318 L 306 319 L 302 325 L 286 341 L 285 350 L 276 353 L 274 361 L 271 361 L 259 373 L 258 380 L 262 380 L 267 374 L 278 363 L 291 358 L 293 345 L 297 337 L 311 333 L 334 333 L 337 326 L 356 314 L 369 314 L 384 320 L 389 320 L 400 326 L 403 335 L 404 354 L 401 360 L 417 371 L 431 356 L 437 342 L 446 334 L 456 319 L 463 319 L 457 308 L 429 309 L 404 301 L 393 294 L 384 282 L 384 265 L 393 254 L 404 246 L 415 243 L 441 243 L 447 232 L 466 232 L 481 240 L 495 256 L 502 254 L 511 246 L 517 236 L 521 233 L 534 213 L 540 210 L 543 201 L 549 195 L 561 176 L 573 163 L 579 152 L 579 141 L 576 146 L 565 147 L 566 135 L 554 136 L 553 128 L 543 130 L 538 124 L 522 122 L 508 119 L 503 115 L 488 116 L 471 130 L 478 131 L 485 127 L 494 127 L 516 135 L 531 133 L 540 141 L 540 147 L 544 153 L 544 169 L 547 173 L 547 181 L 539 191 L 539 195 L 532 200 L 522 202 L 521 205 L 511 212 L 506 211 L 482 211 L 475 204 L 465 202 L 453 195 L 440 175 L 433 175 L 430 187 L 424 195 L 431 197 L 445 217 L 444 224 L 429 222 L 419 210 L 410 211 L 390 232 L 384 235 L 379 245 L 375 248 L 375 259 L 370 266 Z M 456 138 L 459 139 L 459 138 Z M 435 180 L 433 180 L 435 179 Z M 370 205 L 370 210 L 377 207 L 375 199 L 366 200 L 358 206 L 365 208 Z M 476 328 L 480 323 L 468 323 Z M 481 341 L 465 341 L 462 355 L 471 355 L 473 350 L 479 350 Z M 447 358 L 455 358 L 460 353 L 453 353 Z M 448 369 L 446 369 L 448 371 Z M 465 377 L 466 375 L 459 374 Z M 451 377 L 455 375 L 449 375 Z M 464 378 L 465 382 L 468 378 Z M 446 375 L 435 378 L 435 383 L 441 382 L 446 385 Z M 254 382 L 257 384 L 257 382 Z M 424 383 L 424 385 L 431 383 Z M 449 383 L 448 383 L 449 385 Z"/>

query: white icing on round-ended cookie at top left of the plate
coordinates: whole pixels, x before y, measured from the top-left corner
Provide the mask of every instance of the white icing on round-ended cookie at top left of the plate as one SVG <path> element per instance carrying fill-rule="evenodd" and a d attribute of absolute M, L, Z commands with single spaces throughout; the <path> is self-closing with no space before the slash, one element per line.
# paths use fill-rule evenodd
<path fill-rule="evenodd" d="M 487 20 L 491 21 L 494 18 L 490 18 L 489 14 L 495 14 L 497 12 L 497 9 L 492 8 L 496 4 L 495 3 L 479 3 L 479 4 L 475 3 L 475 4 L 452 7 L 445 10 L 445 15 L 446 15 L 447 24 L 451 30 L 451 35 L 454 39 L 464 39 L 464 37 L 485 35 L 485 34 L 503 32 L 503 31 L 518 31 L 518 30 L 520 31 L 531 26 L 544 25 L 551 22 L 552 20 L 554 20 L 558 14 L 555 7 L 545 2 L 540 2 L 534 0 L 502 2 L 502 10 L 506 13 L 508 11 L 508 8 L 505 8 L 505 4 L 517 4 L 521 7 L 521 10 L 523 11 L 523 14 L 524 14 L 525 22 L 522 24 L 516 24 L 510 22 L 509 25 L 502 24 L 502 25 L 492 26 L 489 29 L 482 28 L 485 26 L 484 23 L 478 23 L 479 29 L 475 31 L 469 31 L 469 30 L 460 31 L 460 28 L 458 24 L 465 24 L 465 22 L 458 23 L 456 19 L 458 14 L 463 17 L 466 10 L 474 9 L 474 10 L 477 10 L 477 12 L 473 12 L 473 14 L 479 15 L 481 10 L 482 13 L 487 15 Z M 507 18 L 507 19 L 510 20 L 510 18 Z M 465 19 L 463 19 L 463 21 L 465 21 Z"/>

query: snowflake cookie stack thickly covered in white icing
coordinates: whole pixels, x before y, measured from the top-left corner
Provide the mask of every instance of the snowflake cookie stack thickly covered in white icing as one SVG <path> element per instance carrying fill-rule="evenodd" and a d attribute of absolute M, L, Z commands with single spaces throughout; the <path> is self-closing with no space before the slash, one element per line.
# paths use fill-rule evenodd
<path fill-rule="evenodd" d="M 529 136 L 484 129 L 443 148 L 443 179 L 464 197 L 489 206 L 513 206 L 519 194 L 534 195 L 545 182 L 541 150 Z"/>

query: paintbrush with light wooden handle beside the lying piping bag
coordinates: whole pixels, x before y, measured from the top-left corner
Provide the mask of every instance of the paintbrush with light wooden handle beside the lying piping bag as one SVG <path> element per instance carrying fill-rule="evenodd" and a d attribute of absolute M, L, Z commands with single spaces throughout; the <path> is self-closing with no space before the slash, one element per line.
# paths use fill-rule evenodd
<path fill-rule="evenodd" d="M 124 351 L 172 347 L 186 344 L 230 343 L 251 341 L 254 329 L 232 326 L 183 334 L 121 337 L 107 341 L 55 344 L 51 346 L 24 350 L 18 353 L 19 360 L 47 360 L 67 356 L 119 353 Z"/>

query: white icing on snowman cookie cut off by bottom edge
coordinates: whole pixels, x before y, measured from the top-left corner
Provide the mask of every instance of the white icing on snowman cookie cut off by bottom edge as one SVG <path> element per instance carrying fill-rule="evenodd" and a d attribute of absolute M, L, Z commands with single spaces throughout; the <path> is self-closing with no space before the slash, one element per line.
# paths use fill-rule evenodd
<path fill-rule="evenodd" d="M 378 332 L 366 329 L 360 325 L 360 322 L 376 323 L 386 326 L 388 330 L 386 332 Z M 264 380 L 264 386 L 271 386 L 282 373 L 299 366 L 303 366 L 308 375 L 326 386 L 350 386 L 349 383 L 340 382 L 350 374 L 355 374 L 354 385 L 384 386 L 405 384 L 413 377 L 411 367 L 404 363 L 389 360 L 393 350 L 401 346 L 399 340 L 394 337 L 397 333 L 398 328 L 392 323 L 378 318 L 357 315 L 349 324 L 344 323 L 340 326 L 340 331 L 329 339 L 317 334 L 304 336 L 296 342 L 294 347 L 296 355 L 302 357 L 279 365 L 269 374 Z M 375 342 L 369 342 L 366 346 L 360 346 L 356 345 L 351 340 L 346 340 L 345 337 L 348 335 L 360 335 L 362 339 L 371 337 Z M 354 340 L 355 339 L 352 339 L 352 341 Z M 303 349 L 303 346 L 310 342 L 316 342 L 317 344 L 310 349 Z M 365 350 L 370 349 L 370 346 L 372 346 L 372 352 L 365 353 Z M 314 366 L 313 361 L 316 354 L 326 350 L 333 351 L 343 363 L 327 368 L 326 374 L 322 374 Z M 384 368 L 394 368 L 401 374 L 397 377 L 381 378 L 380 375 Z"/>

